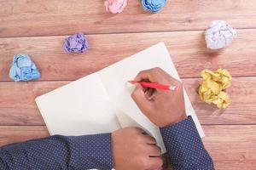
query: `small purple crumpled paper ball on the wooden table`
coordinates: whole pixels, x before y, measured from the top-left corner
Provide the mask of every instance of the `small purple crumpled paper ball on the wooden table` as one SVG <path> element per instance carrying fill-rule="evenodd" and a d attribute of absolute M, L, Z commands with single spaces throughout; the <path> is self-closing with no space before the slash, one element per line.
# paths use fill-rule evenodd
<path fill-rule="evenodd" d="M 67 53 L 84 53 L 89 47 L 84 33 L 79 32 L 72 37 L 67 37 L 64 41 L 63 48 Z"/>

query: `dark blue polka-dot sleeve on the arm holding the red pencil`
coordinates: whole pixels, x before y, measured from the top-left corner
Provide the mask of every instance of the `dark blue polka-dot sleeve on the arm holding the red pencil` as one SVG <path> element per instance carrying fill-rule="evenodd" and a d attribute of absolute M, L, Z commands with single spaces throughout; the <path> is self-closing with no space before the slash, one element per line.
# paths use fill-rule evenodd
<path fill-rule="evenodd" d="M 191 116 L 160 128 L 174 170 L 213 170 L 213 162 L 201 141 Z"/>

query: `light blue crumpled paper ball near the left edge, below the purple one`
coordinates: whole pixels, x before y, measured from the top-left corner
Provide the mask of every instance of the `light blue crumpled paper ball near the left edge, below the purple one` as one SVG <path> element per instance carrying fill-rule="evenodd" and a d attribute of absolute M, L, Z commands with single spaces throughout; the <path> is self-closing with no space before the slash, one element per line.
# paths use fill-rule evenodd
<path fill-rule="evenodd" d="M 9 70 L 9 77 L 15 82 L 30 81 L 39 78 L 40 72 L 28 54 L 16 54 Z"/>

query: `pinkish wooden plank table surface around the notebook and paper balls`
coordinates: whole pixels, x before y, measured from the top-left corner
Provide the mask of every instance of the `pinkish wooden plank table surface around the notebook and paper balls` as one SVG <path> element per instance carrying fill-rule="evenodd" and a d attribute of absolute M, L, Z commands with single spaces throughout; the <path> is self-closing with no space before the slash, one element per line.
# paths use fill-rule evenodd
<path fill-rule="evenodd" d="M 121 14 L 106 13 L 103 0 L 0 0 L 0 6 L 0 145 L 49 135 L 34 102 L 38 95 L 166 42 L 216 169 L 256 169 L 256 0 L 169 0 L 159 14 L 144 12 L 138 0 Z M 227 20 L 238 33 L 218 52 L 204 41 L 212 20 Z M 63 39 L 78 31 L 88 35 L 90 50 L 65 54 Z M 40 79 L 9 79 L 19 53 L 32 56 Z M 206 105 L 196 92 L 201 70 L 219 67 L 234 77 L 226 110 Z"/>

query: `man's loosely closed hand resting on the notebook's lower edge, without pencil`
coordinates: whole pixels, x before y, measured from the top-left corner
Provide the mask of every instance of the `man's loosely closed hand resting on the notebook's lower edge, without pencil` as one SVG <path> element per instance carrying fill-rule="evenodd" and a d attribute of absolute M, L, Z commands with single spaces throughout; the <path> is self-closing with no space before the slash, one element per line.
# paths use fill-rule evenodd
<path fill-rule="evenodd" d="M 112 133 L 113 163 L 116 170 L 157 170 L 163 164 L 154 138 L 137 127 Z"/>

